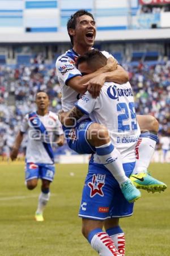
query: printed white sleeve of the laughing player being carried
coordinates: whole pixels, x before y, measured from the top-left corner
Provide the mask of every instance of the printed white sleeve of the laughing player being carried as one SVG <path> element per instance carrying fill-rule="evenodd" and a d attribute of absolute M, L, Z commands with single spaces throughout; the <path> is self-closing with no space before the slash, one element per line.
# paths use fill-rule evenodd
<path fill-rule="evenodd" d="M 75 67 L 75 62 L 65 55 L 58 57 L 56 61 L 56 71 L 58 80 L 62 81 L 63 85 L 67 85 L 67 82 L 75 76 L 82 76 L 80 71 Z"/>

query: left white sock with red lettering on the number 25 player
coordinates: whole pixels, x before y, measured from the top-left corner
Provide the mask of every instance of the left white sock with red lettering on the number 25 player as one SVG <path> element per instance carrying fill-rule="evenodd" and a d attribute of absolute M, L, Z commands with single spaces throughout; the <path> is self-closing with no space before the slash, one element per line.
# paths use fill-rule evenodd
<path fill-rule="evenodd" d="M 91 246 L 100 256 L 120 256 L 113 240 L 105 232 L 95 234 Z"/>

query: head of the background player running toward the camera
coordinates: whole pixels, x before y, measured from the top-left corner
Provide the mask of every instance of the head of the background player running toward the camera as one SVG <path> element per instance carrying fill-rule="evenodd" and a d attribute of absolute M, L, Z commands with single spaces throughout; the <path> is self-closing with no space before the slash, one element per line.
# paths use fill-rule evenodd
<path fill-rule="evenodd" d="M 39 111 L 48 111 L 49 98 L 45 92 L 39 92 L 36 95 L 36 104 L 37 110 Z"/>

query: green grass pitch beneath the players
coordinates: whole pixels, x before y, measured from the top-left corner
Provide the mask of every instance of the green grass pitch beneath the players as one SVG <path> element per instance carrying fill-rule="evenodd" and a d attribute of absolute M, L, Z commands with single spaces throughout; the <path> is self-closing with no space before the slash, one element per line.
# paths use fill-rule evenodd
<path fill-rule="evenodd" d="M 44 222 L 33 217 L 39 186 L 28 191 L 24 164 L 0 163 L 0 255 L 95 256 L 81 234 L 78 210 L 87 164 L 57 164 L 52 196 Z M 168 188 L 162 193 L 142 192 L 132 217 L 120 221 L 126 235 L 126 256 L 170 255 L 169 164 L 151 164 L 152 175 Z M 73 173 L 70 175 L 70 173 Z"/>

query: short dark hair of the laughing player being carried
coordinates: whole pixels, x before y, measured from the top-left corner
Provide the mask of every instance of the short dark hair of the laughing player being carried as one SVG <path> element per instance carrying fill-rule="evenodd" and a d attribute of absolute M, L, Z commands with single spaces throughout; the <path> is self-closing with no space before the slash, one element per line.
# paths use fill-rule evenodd
<path fill-rule="evenodd" d="M 91 16 L 91 18 L 93 20 L 95 20 L 94 16 L 91 13 L 88 13 L 88 11 L 86 11 L 86 10 L 76 11 L 76 13 L 71 15 L 70 19 L 67 21 L 67 31 L 68 31 L 68 34 L 69 34 L 69 29 L 70 28 L 73 28 L 73 29 L 75 28 L 75 26 L 76 26 L 76 18 L 78 18 L 80 16 L 83 16 L 83 15 Z M 70 34 L 69 34 L 69 36 L 70 36 L 71 44 L 72 44 L 72 46 L 74 46 L 73 36 L 71 36 Z"/>

